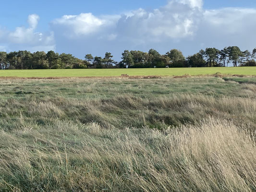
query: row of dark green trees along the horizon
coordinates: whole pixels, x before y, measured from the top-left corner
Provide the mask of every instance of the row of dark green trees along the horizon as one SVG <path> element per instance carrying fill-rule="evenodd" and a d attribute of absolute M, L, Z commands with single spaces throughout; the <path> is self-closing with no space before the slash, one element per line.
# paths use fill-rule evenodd
<path fill-rule="evenodd" d="M 72 54 L 54 51 L 14 51 L 0 52 L 0 69 L 85 69 L 85 68 L 164 68 L 164 67 L 228 67 L 256 66 L 256 48 L 241 51 L 237 46 L 201 49 L 198 53 L 184 57 L 178 49 L 171 49 L 161 55 L 157 50 L 148 52 L 124 50 L 122 60 L 117 62 L 113 55 L 106 52 L 105 56 L 93 57 L 86 54 L 81 60 Z"/>

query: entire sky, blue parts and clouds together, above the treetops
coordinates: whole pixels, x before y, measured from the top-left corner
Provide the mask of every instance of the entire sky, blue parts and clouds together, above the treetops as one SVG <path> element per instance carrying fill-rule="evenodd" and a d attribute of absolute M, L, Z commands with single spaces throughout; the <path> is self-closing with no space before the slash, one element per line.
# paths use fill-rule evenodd
<path fill-rule="evenodd" d="M 123 50 L 185 56 L 256 48 L 256 0 L 12 0 L 1 2 L 0 51 L 29 50 L 120 60 Z"/>

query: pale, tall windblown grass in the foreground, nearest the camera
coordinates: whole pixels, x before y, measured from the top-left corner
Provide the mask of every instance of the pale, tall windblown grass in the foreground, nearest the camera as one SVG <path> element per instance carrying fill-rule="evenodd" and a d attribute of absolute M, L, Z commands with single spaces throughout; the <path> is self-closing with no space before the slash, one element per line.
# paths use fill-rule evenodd
<path fill-rule="evenodd" d="M 2 191 L 255 192 L 256 143 L 228 121 L 1 132 Z"/>

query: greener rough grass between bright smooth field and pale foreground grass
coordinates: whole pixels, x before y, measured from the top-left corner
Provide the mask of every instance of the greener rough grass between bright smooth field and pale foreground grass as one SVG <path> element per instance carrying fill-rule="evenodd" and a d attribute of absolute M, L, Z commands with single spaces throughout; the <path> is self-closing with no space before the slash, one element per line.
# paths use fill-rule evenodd
<path fill-rule="evenodd" d="M 94 121 L 102 126 L 118 128 L 133 125 L 164 129 L 170 125 L 202 120 L 209 115 L 226 119 L 235 115 L 246 118 L 254 127 L 254 118 L 250 114 L 237 114 L 239 109 L 235 109 L 232 103 L 225 104 L 234 96 L 236 100 L 253 98 L 254 91 L 254 85 L 237 84 L 216 77 L 7 79 L 2 80 L 0 86 L 0 117 L 3 118 L 0 126 L 2 129 L 13 129 L 13 126 L 19 129 L 18 120 L 22 114 L 24 122 L 35 126 L 60 119 L 82 123 Z M 197 98 L 202 100 L 197 101 Z M 194 99 L 205 107 L 191 109 L 190 102 Z M 222 109 L 220 104 L 226 107 Z"/>

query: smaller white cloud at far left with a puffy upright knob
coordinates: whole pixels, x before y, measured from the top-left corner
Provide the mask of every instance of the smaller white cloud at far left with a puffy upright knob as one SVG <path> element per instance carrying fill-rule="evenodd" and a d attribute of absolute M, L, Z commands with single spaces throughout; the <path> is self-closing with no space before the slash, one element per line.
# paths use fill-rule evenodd
<path fill-rule="evenodd" d="M 37 32 L 37 24 L 39 16 L 37 14 L 31 14 L 28 16 L 27 23 L 28 27 L 20 26 L 16 27 L 14 31 L 8 29 L 0 29 L 0 41 L 1 44 L 5 44 L 5 50 L 17 50 L 27 49 L 48 51 L 55 49 L 54 35 L 53 32 L 41 33 Z M 0 47 L 3 45 L 0 44 Z"/>

